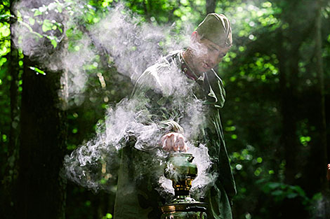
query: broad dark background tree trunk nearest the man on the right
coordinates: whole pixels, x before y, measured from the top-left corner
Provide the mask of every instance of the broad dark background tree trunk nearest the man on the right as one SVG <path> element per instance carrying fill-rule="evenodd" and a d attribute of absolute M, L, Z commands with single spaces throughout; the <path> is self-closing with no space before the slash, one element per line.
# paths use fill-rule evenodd
<path fill-rule="evenodd" d="M 284 153 L 285 180 L 284 182 L 296 185 L 296 176 L 299 174 L 301 162 L 298 155 L 301 147 L 297 134 L 299 119 L 298 101 L 298 63 L 301 59 L 299 50 L 301 44 L 308 37 L 309 26 L 301 26 L 294 15 L 301 13 L 301 8 L 296 7 L 298 1 L 287 3 L 282 20 L 289 24 L 285 31 L 279 30 L 279 88 L 281 95 L 281 114 L 282 114 L 282 151 Z"/>

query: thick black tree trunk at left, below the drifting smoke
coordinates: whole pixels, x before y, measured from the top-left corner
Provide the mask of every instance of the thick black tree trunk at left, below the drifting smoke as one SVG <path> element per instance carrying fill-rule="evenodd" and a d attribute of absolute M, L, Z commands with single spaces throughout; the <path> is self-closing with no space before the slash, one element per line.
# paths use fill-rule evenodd
<path fill-rule="evenodd" d="M 60 176 L 67 134 L 60 110 L 60 73 L 37 75 L 24 60 L 17 218 L 65 218 L 65 179 Z"/>

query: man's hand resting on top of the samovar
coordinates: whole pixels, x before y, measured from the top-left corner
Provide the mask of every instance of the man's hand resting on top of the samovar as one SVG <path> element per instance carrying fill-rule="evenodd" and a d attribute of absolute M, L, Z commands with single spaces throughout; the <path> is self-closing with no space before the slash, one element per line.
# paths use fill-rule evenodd
<path fill-rule="evenodd" d="M 185 137 L 177 132 L 170 132 L 161 137 L 161 145 L 166 151 L 187 152 L 188 147 L 185 144 Z"/>

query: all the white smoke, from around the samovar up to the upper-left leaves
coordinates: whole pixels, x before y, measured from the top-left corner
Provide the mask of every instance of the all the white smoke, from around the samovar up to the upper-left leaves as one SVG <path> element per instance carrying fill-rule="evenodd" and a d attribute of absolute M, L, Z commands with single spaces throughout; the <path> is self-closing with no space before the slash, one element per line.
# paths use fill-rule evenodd
<path fill-rule="evenodd" d="M 175 34 L 171 25 L 160 27 L 143 22 L 142 17 L 121 4 L 108 8 L 107 15 L 99 22 L 86 27 L 81 23 L 82 17 L 91 6 L 85 1 L 44 1 L 34 5 L 26 5 L 25 2 L 15 5 L 20 17 L 12 29 L 15 45 L 44 69 L 62 71 L 63 88 L 59 94 L 67 102 L 67 107 L 84 101 L 87 64 L 95 67 L 113 65 L 135 83 L 147 66 L 171 50 L 185 48 L 193 27 L 186 23 L 180 35 Z M 48 26 L 56 24 L 56 27 L 49 26 L 51 29 L 44 31 L 45 20 Z M 74 37 L 77 39 L 72 41 Z M 69 50 L 69 47 L 74 50 Z M 100 63 L 99 52 L 109 56 L 107 63 Z M 164 97 L 173 97 L 170 110 L 176 114 L 170 119 L 181 119 L 185 136 L 194 139 L 199 134 L 200 125 L 205 122 L 202 101 L 190 95 L 194 83 L 175 67 L 150 67 L 147 71 L 159 74 L 152 80 L 140 81 L 140 84 L 161 91 Z M 117 178 L 119 150 L 133 141 L 134 148 L 149 153 L 142 153 L 140 156 L 147 158 L 134 166 L 136 180 L 148 172 L 156 182 L 159 181 L 163 191 L 171 192 L 169 181 L 163 177 L 166 153 L 159 148 L 159 139 L 169 132 L 169 128 L 161 123 L 160 118 L 150 119 L 152 113 L 146 110 L 147 104 L 144 94 L 137 93 L 131 99 L 123 99 L 115 107 L 108 108 L 105 122 L 98 125 L 96 136 L 65 157 L 65 175 L 95 191 L 108 190 Z M 207 149 L 190 144 L 189 152 L 194 155 L 199 169 L 193 189 L 204 188 L 216 178 L 207 172 L 211 165 Z"/>

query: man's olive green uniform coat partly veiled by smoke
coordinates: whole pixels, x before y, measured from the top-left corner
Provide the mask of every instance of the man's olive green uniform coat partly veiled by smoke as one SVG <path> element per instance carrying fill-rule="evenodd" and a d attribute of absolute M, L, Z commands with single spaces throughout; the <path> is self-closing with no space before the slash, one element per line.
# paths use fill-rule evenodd
<path fill-rule="evenodd" d="M 219 109 L 225 101 L 223 83 L 213 70 L 196 81 L 187 78 L 181 71 L 181 52 L 174 51 L 146 69 L 136 82 L 131 100 L 140 101 L 136 110 L 147 115 L 145 124 L 159 128 L 153 133 L 154 139 L 168 132 L 183 132 L 195 146 L 207 146 L 213 163 L 209 171 L 215 171 L 218 177 L 200 201 L 209 204 L 209 218 L 231 219 L 230 199 L 236 188 L 220 122 Z M 166 199 L 157 190 L 162 174 L 161 158 L 155 161 L 157 151 L 159 146 L 135 137 L 121 149 L 115 219 L 160 218 L 159 205 Z"/>

